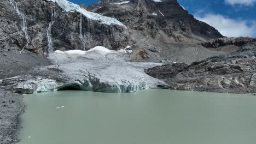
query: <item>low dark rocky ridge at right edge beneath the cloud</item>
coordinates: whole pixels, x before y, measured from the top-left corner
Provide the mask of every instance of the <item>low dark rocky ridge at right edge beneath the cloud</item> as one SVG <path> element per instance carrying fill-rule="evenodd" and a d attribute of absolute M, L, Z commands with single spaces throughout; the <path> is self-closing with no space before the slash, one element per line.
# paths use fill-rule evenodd
<path fill-rule="evenodd" d="M 255 42 L 256 38 L 239 37 L 239 38 L 220 38 L 213 41 L 202 43 L 207 48 L 218 48 L 226 45 L 243 46 L 248 43 Z"/>

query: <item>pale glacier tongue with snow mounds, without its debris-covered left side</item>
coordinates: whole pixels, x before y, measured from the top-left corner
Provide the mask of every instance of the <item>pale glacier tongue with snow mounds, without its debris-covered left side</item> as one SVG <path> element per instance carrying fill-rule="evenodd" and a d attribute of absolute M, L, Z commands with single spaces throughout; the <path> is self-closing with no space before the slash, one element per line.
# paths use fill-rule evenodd
<path fill-rule="evenodd" d="M 128 51 L 128 50 L 127 50 Z M 164 81 L 155 79 L 145 69 L 160 63 L 126 62 L 129 52 L 109 50 L 96 46 L 88 51 L 55 51 L 48 59 L 69 77 L 57 89 L 79 89 L 96 92 L 136 92 L 141 89 L 166 86 Z"/>

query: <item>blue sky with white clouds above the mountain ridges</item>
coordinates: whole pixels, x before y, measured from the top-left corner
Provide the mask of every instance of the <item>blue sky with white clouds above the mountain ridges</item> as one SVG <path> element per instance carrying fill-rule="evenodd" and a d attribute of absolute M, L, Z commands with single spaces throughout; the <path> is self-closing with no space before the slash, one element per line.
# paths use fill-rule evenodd
<path fill-rule="evenodd" d="M 69 0 L 90 5 L 97 0 Z M 227 37 L 256 37 L 256 0 L 178 0 L 196 19 Z"/>

